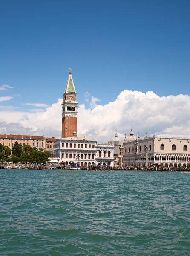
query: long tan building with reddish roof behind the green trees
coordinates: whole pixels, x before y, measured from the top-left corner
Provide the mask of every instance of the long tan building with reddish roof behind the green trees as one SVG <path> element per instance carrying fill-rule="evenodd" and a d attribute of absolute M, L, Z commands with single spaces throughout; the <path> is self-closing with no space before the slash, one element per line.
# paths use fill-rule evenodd
<path fill-rule="evenodd" d="M 8 146 L 12 149 L 14 143 L 17 141 L 20 145 L 29 145 L 32 148 L 37 148 L 37 150 L 45 150 L 46 141 L 44 135 L 34 136 L 34 135 L 20 135 L 20 134 L 0 134 L 0 143 L 4 146 Z"/>

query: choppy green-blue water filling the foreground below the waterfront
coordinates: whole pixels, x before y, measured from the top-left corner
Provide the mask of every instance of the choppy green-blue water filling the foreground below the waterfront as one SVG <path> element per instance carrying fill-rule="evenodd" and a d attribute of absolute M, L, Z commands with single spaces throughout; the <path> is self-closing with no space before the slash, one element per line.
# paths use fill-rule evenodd
<path fill-rule="evenodd" d="M 0 255 L 189 256 L 190 174 L 1 169 Z"/>

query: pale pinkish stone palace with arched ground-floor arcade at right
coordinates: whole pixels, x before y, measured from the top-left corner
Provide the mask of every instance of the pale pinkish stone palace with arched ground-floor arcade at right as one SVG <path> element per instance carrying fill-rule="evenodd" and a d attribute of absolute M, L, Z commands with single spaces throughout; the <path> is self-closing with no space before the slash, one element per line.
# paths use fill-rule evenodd
<path fill-rule="evenodd" d="M 148 166 L 154 164 L 163 168 L 190 167 L 190 137 L 174 135 L 153 135 L 134 137 L 130 134 L 123 143 L 123 166 L 146 166 L 146 149 Z"/>

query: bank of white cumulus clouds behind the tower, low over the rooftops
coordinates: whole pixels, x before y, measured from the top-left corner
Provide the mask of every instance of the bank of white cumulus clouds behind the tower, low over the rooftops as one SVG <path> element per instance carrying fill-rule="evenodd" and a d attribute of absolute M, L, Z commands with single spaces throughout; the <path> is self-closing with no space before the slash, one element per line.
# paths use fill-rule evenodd
<path fill-rule="evenodd" d="M 91 98 L 92 108 L 85 104 L 78 106 L 78 136 L 106 143 L 112 140 L 117 128 L 118 137 L 124 139 L 130 126 L 140 136 L 151 134 L 190 134 L 190 97 L 188 95 L 159 97 L 153 92 L 122 91 L 117 99 L 106 105 L 96 105 L 97 98 Z M 61 103 L 63 99 L 49 106 L 44 112 L 0 111 L 3 133 L 23 133 L 60 137 Z M 14 125 L 13 125 L 14 123 Z M 14 129 L 13 129 L 14 127 Z M 15 130 L 15 131 L 13 131 Z M 21 132 L 22 131 L 22 132 Z"/>

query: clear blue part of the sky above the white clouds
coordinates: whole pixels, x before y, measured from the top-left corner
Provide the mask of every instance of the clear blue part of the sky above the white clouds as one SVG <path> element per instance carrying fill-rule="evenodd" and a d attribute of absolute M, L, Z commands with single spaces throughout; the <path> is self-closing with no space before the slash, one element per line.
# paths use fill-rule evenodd
<path fill-rule="evenodd" d="M 1 105 L 30 108 L 62 97 L 69 67 L 84 102 L 124 90 L 189 94 L 190 1 L 0 2 Z M 86 104 L 87 102 L 85 102 Z"/>

